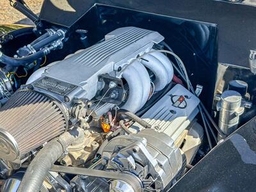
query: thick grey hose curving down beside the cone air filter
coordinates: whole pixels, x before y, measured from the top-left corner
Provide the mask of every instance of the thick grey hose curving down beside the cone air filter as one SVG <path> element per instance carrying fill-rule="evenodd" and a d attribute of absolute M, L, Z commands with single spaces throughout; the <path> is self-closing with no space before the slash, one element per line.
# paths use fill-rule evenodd
<path fill-rule="evenodd" d="M 59 138 L 49 141 L 29 164 L 17 191 L 40 191 L 52 164 L 63 154 L 68 145 L 71 145 L 76 140 L 80 131 L 83 131 L 83 129 L 74 128 L 61 134 Z"/>

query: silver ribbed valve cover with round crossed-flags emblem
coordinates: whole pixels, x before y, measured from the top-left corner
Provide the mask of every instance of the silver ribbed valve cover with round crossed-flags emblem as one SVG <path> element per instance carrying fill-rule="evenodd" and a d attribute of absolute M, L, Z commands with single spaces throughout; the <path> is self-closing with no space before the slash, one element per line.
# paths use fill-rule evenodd
<path fill-rule="evenodd" d="M 184 100 L 177 106 L 177 103 L 174 104 L 173 101 L 178 100 L 180 96 L 183 96 Z M 199 102 L 200 100 L 195 95 L 177 84 L 141 118 L 152 125 L 157 132 L 164 132 L 175 141 L 195 118 Z M 143 127 L 135 123 L 129 129 L 138 132 Z"/>

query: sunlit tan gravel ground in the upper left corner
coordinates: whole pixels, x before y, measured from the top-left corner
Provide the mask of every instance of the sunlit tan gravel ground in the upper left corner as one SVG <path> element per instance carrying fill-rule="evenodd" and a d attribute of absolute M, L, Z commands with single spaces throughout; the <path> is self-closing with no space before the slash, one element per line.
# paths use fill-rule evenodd
<path fill-rule="evenodd" d="M 12 8 L 9 2 L 9 0 L 0 0 L 0 24 L 28 24 L 28 20 L 25 19 L 26 17 L 15 10 L 15 8 Z M 43 0 L 26 0 L 25 2 L 34 13 L 39 13 Z"/>

